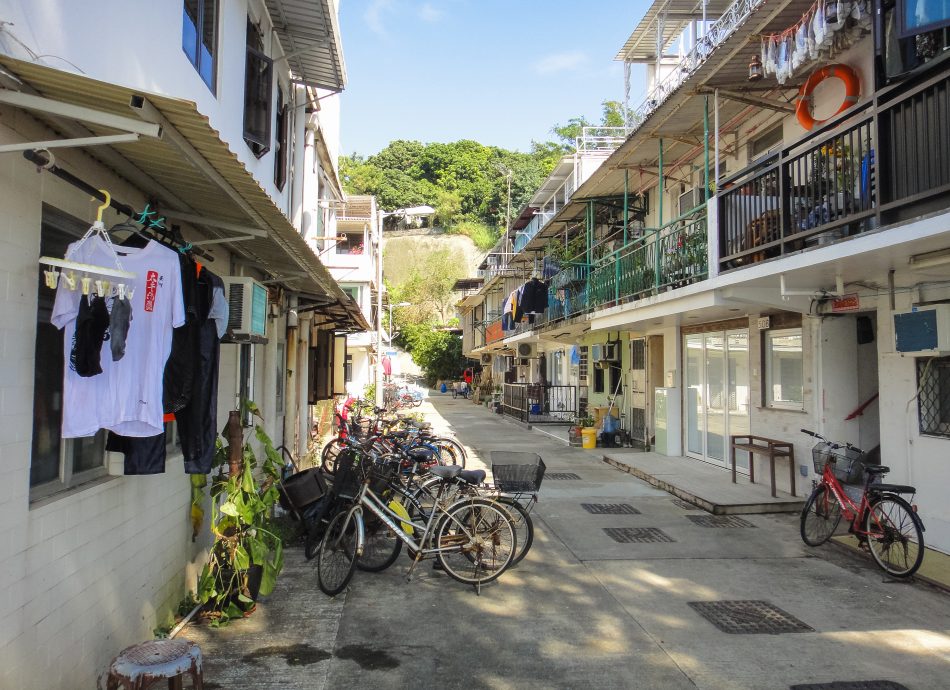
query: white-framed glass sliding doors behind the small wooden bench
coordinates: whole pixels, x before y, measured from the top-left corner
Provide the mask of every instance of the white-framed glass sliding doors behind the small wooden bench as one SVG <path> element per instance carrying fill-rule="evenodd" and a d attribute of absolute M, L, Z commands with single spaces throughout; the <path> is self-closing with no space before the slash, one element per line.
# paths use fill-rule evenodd
<path fill-rule="evenodd" d="M 683 337 L 686 366 L 686 454 L 729 464 L 729 437 L 749 433 L 749 330 L 691 333 Z M 749 457 L 736 454 L 749 471 Z"/>

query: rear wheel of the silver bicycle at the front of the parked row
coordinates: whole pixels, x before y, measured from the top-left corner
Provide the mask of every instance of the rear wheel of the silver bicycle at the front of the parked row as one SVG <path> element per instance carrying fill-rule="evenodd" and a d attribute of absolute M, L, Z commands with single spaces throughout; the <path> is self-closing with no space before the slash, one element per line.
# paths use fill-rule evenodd
<path fill-rule="evenodd" d="M 436 530 L 439 563 L 454 580 L 483 585 L 511 565 L 518 540 L 508 512 L 485 499 L 449 506 Z"/>

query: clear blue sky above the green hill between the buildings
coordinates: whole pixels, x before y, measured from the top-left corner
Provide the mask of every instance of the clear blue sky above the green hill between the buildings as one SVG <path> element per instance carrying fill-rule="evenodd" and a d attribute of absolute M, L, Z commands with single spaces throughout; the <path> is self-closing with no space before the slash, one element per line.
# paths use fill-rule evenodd
<path fill-rule="evenodd" d="M 614 61 L 647 0 L 343 0 L 341 153 L 393 139 L 527 151 L 623 99 Z M 642 97 L 634 66 L 630 105 Z"/>

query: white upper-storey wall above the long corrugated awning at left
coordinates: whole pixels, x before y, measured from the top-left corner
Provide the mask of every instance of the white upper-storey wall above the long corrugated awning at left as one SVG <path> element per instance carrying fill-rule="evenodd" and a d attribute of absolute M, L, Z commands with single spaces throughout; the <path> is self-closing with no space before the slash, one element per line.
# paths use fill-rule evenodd
<path fill-rule="evenodd" d="M 282 209 L 289 207 L 291 185 L 274 185 L 274 147 L 260 159 L 243 139 L 244 62 L 248 14 L 262 21 L 265 50 L 272 57 L 282 49 L 271 31 L 261 0 L 221 0 L 216 90 L 202 81 L 181 47 L 182 4 L 149 0 L 0 0 L 0 20 L 34 53 L 41 64 L 89 78 L 193 101 L 220 132 L 231 150 Z M 0 49 L 30 59 L 10 36 L 0 33 Z M 275 68 L 286 98 L 286 75 Z M 337 97 L 322 101 L 321 122 L 339 139 Z M 324 114 L 325 113 L 325 114 Z M 273 114 L 272 114 L 273 117 Z M 272 123 L 272 128 L 274 127 Z"/>

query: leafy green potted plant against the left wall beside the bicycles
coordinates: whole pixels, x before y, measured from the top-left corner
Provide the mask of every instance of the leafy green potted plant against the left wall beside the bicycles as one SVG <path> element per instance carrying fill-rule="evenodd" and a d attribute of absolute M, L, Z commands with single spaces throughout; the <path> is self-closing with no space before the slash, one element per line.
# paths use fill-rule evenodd
<path fill-rule="evenodd" d="M 247 403 L 246 409 L 260 417 L 254 403 Z M 283 542 L 272 526 L 283 462 L 261 426 L 255 428 L 255 435 L 263 448 L 263 461 L 258 462 L 244 439 L 236 473 L 229 469 L 227 451 L 218 440 L 217 474 L 211 481 L 214 541 L 198 579 L 198 600 L 213 625 L 253 609 L 259 594 L 266 596 L 274 590 L 283 568 Z"/>

